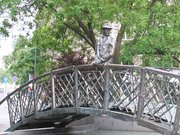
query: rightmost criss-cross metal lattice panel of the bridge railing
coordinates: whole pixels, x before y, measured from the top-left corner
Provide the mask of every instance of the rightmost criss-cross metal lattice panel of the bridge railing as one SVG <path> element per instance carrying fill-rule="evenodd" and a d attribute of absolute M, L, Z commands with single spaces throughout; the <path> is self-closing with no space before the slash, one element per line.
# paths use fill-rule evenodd
<path fill-rule="evenodd" d="M 179 79 L 166 74 L 147 70 L 143 91 L 144 117 L 171 126 L 176 114 L 179 82 Z"/>

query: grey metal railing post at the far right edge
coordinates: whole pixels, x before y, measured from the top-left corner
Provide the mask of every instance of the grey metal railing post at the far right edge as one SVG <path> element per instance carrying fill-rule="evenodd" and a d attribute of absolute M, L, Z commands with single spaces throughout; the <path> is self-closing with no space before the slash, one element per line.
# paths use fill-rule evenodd
<path fill-rule="evenodd" d="M 179 123 L 180 123 L 180 92 L 177 94 L 177 97 L 178 97 L 177 110 L 176 110 L 176 115 L 174 119 L 172 135 L 177 135 L 177 132 L 179 130 Z"/>

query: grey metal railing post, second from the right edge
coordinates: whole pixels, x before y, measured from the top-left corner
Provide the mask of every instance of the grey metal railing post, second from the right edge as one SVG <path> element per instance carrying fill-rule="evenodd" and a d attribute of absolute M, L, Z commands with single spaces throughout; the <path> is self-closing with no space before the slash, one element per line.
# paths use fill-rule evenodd
<path fill-rule="evenodd" d="M 137 119 L 142 117 L 143 107 L 144 107 L 144 83 L 145 83 L 145 69 L 141 69 L 141 80 L 139 84 L 139 95 L 138 95 L 138 110 L 137 110 Z"/>

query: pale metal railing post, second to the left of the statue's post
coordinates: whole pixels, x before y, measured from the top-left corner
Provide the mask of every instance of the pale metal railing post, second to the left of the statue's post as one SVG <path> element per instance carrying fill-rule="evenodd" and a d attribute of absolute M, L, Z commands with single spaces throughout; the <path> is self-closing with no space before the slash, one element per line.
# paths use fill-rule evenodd
<path fill-rule="evenodd" d="M 52 90 L 52 109 L 56 108 L 56 97 L 55 97 L 55 82 L 54 82 L 54 74 L 51 74 L 51 90 Z"/>

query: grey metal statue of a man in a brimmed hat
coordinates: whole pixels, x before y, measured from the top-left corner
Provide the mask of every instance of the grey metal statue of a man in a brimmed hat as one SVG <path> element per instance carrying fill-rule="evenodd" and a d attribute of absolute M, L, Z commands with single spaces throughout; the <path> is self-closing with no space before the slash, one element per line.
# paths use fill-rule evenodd
<path fill-rule="evenodd" d="M 95 63 L 111 63 L 113 55 L 113 38 L 110 36 L 112 25 L 106 23 L 102 27 L 103 35 L 97 43 Z"/>

